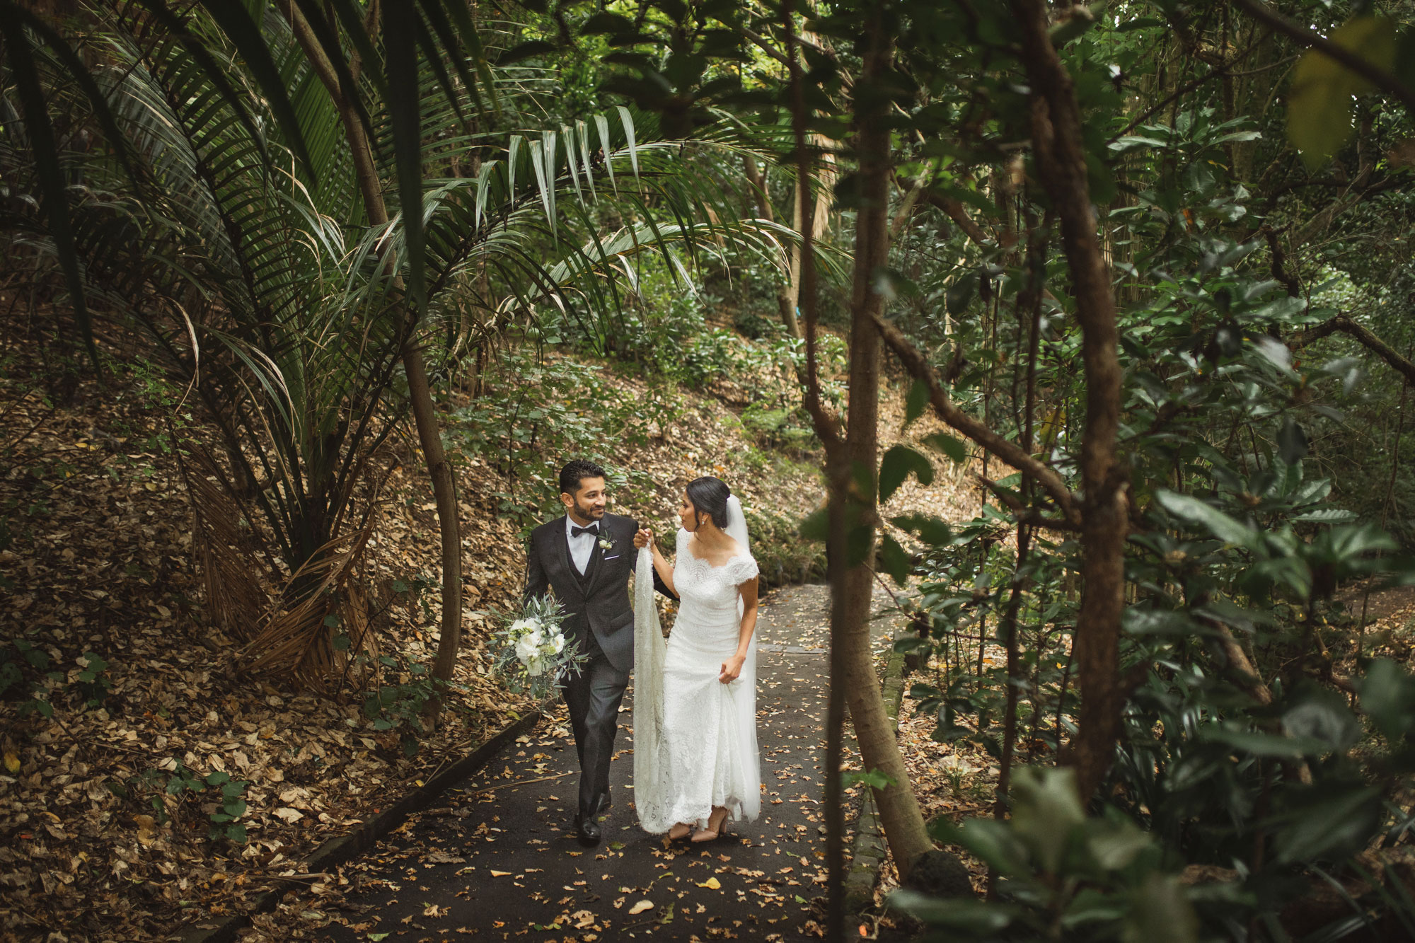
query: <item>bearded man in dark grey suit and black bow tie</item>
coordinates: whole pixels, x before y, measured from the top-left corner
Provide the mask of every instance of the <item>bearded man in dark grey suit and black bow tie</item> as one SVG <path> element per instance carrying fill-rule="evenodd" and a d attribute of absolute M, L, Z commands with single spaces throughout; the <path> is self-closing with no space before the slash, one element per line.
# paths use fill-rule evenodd
<path fill-rule="evenodd" d="M 560 503 L 565 517 L 531 532 L 525 599 L 553 592 L 566 612 L 566 640 L 589 656 L 580 674 L 565 680 L 565 704 L 580 756 L 574 834 L 582 845 L 597 845 L 597 817 L 611 804 L 610 756 L 618 707 L 634 667 L 628 578 L 637 559 L 638 522 L 604 513 L 604 469 L 583 459 L 560 469 Z M 671 596 L 658 573 L 654 585 Z"/>

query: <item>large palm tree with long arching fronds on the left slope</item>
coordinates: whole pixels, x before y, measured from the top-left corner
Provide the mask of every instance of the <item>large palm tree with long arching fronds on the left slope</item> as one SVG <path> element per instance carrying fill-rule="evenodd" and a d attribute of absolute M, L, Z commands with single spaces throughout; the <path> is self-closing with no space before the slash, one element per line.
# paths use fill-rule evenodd
<path fill-rule="evenodd" d="M 634 253 L 681 266 L 788 234 L 733 222 L 716 176 L 732 161 L 705 157 L 756 153 L 739 139 L 661 140 L 624 108 L 535 127 L 535 91 L 509 91 L 464 7 L 400 6 L 409 27 L 389 6 L 381 24 L 347 1 L 334 21 L 297 1 L 256 24 L 236 4 L 103 3 L 81 34 L 0 3 L 17 14 L 0 91 L 23 112 L 3 116 L 0 161 L 41 197 L 11 201 L 4 231 L 64 268 L 85 334 L 92 302 L 201 402 L 221 447 L 190 443 L 184 471 L 212 615 L 258 668 L 311 681 L 338 658 L 331 622 L 357 616 L 379 446 L 409 411 L 443 535 L 436 675 L 451 675 L 460 534 L 424 364 L 450 353 L 449 319 L 466 344 L 536 306 L 606 312 Z M 61 108 L 103 147 L 55 135 Z M 601 231 L 606 204 L 634 222 Z M 468 310 L 484 317 L 468 327 Z"/>

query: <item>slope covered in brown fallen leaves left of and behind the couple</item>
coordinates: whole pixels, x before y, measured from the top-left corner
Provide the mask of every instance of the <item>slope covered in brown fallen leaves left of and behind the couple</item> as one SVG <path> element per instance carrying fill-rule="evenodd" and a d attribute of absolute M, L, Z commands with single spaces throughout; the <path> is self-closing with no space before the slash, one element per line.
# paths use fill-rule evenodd
<path fill-rule="evenodd" d="M 533 358 L 515 357 L 521 371 Z M 488 372 L 478 396 L 463 391 L 441 404 L 446 436 L 461 449 L 467 616 L 450 709 L 424 731 L 437 531 L 405 436 L 383 446 L 396 467 L 358 579 L 368 620 L 354 648 L 368 653 L 366 667 L 310 691 L 252 673 L 248 653 L 207 612 L 177 460 L 183 436 L 202 430 L 180 391 L 116 358 L 102 384 L 75 371 L 55 385 L 44 379 L 65 374 L 50 360 L 52 351 L 23 337 L 4 341 L 0 818 L 10 838 L 0 847 L 8 901 L 0 939 L 41 930 L 156 939 L 198 916 L 239 912 L 282 878 L 289 884 L 321 841 L 532 709 L 488 674 L 485 643 L 494 613 L 519 598 L 524 534 L 553 514 L 549 483 L 572 453 L 607 463 L 613 511 L 665 531 L 682 484 L 722 476 L 753 515 L 766 582 L 821 572 L 821 548 L 797 534 L 824 500 L 818 466 L 744 425 L 726 405 L 730 389 L 675 391 L 671 411 L 651 412 L 644 404 L 662 392 L 652 379 L 550 353 L 536 370 L 556 382 L 593 378 L 591 392 L 620 406 L 596 412 L 546 395 L 512 415 Z M 884 415 L 896 430 L 903 408 L 891 391 Z M 555 409 L 580 425 L 558 426 Z M 630 415 L 655 421 L 634 435 L 616 428 Z M 927 421 L 914 423 L 908 438 L 928 432 Z M 948 464 L 934 487 L 906 483 L 891 513 L 952 517 L 971 486 Z"/>

